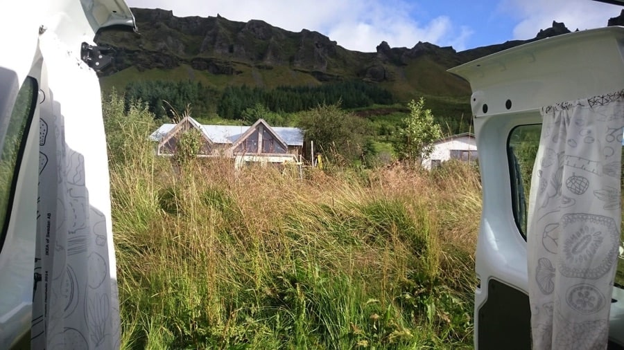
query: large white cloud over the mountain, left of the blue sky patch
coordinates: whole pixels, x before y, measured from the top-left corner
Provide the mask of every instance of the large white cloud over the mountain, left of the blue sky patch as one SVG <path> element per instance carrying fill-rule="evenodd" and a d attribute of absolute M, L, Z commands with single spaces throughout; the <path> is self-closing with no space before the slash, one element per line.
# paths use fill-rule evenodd
<path fill-rule="evenodd" d="M 349 50 L 365 52 L 374 52 L 382 41 L 392 47 L 412 47 L 421 41 L 462 50 L 473 33 L 469 28 L 456 28 L 445 16 L 420 23 L 410 16 L 417 15 L 417 3 L 406 0 L 128 0 L 128 4 L 173 10 L 178 17 L 218 13 L 233 21 L 261 19 L 293 32 L 306 28 Z"/>

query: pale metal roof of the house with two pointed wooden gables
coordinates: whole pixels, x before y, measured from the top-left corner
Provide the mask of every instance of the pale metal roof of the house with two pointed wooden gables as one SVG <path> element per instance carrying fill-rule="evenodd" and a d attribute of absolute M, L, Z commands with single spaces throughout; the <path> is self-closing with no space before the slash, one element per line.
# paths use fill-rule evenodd
<path fill-rule="evenodd" d="M 159 141 L 175 124 L 163 124 L 150 135 L 150 140 Z M 201 125 L 202 131 L 215 143 L 232 144 L 250 127 L 239 125 Z M 288 146 L 303 146 L 303 131 L 296 127 L 271 127 Z"/>

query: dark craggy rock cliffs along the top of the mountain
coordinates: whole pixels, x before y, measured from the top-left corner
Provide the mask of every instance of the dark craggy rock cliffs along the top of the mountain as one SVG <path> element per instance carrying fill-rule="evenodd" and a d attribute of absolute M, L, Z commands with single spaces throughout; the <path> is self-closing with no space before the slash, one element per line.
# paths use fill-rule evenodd
<path fill-rule="evenodd" d="M 570 33 L 562 23 L 540 30 L 528 40 L 473 48 L 456 52 L 417 42 L 412 48 L 392 48 L 381 42 L 374 53 L 347 50 L 318 32 L 299 33 L 277 28 L 265 21 L 230 21 L 216 17 L 175 17 L 169 10 L 133 8 L 139 33 L 105 31 L 96 42 L 112 46 L 116 60 L 113 74 L 130 66 L 139 71 L 171 69 L 186 64 L 214 75 L 237 75 L 244 67 L 270 70 L 286 67 L 306 73 L 320 82 L 358 78 L 370 82 L 392 82 L 404 76 L 407 66 L 420 59 L 437 65 L 440 72 L 499 50 L 537 39 Z M 623 14 L 609 19 L 609 25 L 622 24 Z"/>

